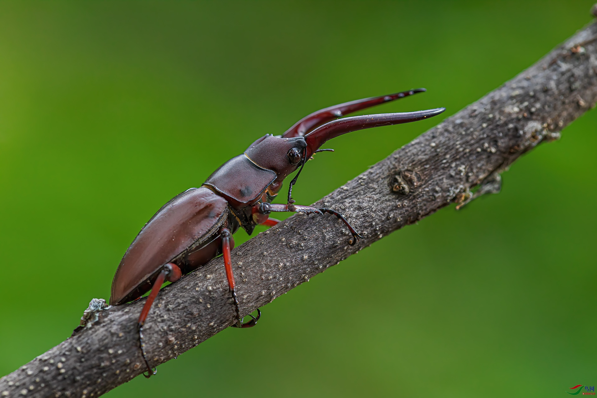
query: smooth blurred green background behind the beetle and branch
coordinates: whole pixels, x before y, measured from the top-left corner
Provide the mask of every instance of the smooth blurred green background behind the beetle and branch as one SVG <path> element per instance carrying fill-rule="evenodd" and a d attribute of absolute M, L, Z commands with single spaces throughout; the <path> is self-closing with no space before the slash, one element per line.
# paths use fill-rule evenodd
<path fill-rule="evenodd" d="M 0 375 L 69 337 L 153 212 L 257 137 L 414 87 L 429 91 L 374 112 L 448 116 L 588 23 L 593 1 L 0 3 Z M 315 202 L 440 120 L 334 140 L 294 197 Z M 384 237 L 264 307 L 259 327 L 107 396 L 597 384 L 596 132 L 592 110 L 499 195 Z"/>

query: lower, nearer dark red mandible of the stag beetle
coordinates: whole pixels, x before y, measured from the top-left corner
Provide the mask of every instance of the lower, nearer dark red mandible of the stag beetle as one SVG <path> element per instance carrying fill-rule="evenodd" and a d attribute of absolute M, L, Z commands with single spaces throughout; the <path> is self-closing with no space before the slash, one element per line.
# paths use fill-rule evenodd
<path fill-rule="evenodd" d="M 362 130 L 365 128 L 390 126 L 395 124 L 416 122 L 444 112 L 445 108 L 420 110 L 418 112 L 405 113 L 381 113 L 380 115 L 352 116 L 352 118 L 338 119 L 324 124 L 309 134 L 305 135 L 307 141 L 306 159 L 321 147 L 325 141 L 336 138 L 338 135 L 347 132 Z"/>

